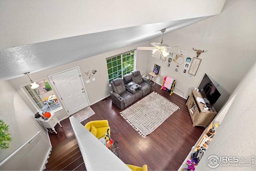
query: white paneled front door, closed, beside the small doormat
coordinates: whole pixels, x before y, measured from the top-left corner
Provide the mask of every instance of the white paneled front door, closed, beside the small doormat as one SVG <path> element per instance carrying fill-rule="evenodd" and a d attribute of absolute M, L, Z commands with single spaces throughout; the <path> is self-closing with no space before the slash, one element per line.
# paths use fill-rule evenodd
<path fill-rule="evenodd" d="M 79 68 L 72 68 L 64 72 L 52 74 L 49 77 L 52 79 L 68 111 L 68 115 L 72 115 L 89 106 Z"/>

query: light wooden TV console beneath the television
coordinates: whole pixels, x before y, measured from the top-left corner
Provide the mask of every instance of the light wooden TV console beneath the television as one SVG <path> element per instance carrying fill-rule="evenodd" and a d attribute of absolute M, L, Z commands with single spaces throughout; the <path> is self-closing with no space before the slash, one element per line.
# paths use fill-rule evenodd
<path fill-rule="evenodd" d="M 193 126 L 207 127 L 212 119 L 217 115 L 217 112 L 215 111 L 214 107 L 212 107 L 210 111 L 204 111 L 204 105 L 199 101 L 196 101 L 197 97 L 203 98 L 199 91 L 196 92 L 192 89 L 186 103 L 188 112 L 192 119 Z"/>

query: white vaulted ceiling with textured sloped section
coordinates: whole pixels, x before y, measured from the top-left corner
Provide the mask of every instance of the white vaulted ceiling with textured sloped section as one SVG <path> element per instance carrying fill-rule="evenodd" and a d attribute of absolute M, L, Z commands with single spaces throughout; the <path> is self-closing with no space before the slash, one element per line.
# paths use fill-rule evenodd
<path fill-rule="evenodd" d="M 0 80 L 145 42 L 220 14 L 225 0 L 1 0 Z"/>

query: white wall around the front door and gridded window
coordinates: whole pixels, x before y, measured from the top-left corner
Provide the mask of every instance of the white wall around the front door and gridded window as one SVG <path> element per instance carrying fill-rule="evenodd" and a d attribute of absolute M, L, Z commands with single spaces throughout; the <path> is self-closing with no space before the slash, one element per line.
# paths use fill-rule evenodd
<path fill-rule="evenodd" d="M 116 56 L 118 54 L 122 54 L 131 50 L 135 50 L 138 46 L 148 46 L 148 42 L 143 42 L 140 44 L 135 44 L 132 46 L 128 46 L 126 48 L 110 51 L 97 56 L 92 56 L 90 58 L 85 58 L 83 60 L 79 60 L 79 61 L 72 62 L 59 67 L 51 68 L 43 72 L 30 74 L 30 78 L 33 81 L 42 80 L 42 78 L 48 77 L 48 75 L 50 74 L 54 74 L 69 68 L 73 68 L 75 66 L 79 66 L 82 73 L 82 78 L 84 80 L 85 89 L 88 94 L 89 103 L 90 105 L 92 105 L 93 103 L 96 103 L 97 101 L 100 101 L 101 99 L 104 99 L 105 97 L 109 96 L 110 91 L 112 91 L 108 83 L 106 58 Z M 146 74 L 147 51 L 137 51 L 136 56 L 137 56 L 136 69 L 140 70 L 141 74 Z M 70 58 L 72 58 L 72 56 Z M 85 74 L 85 72 L 88 72 L 88 70 L 90 70 L 90 72 L 92 70 L 97 70 L 97 72 L 93 77 L 89 79 L 89 76 Z M 92 81 L 92 78 L 95 78 L 95 81 Z M 86 80 L 90 80 L 90 83 L 86 84 Z M 16 89 L 17 93 L 20 94 L 22 99 L 26 101 L 27 105 L 31 108 L 31 110 L 34 113 L 36 113 L 37 112 L 36 109 L 34 108 L 34 106 L 31 104 L 31 102 L 28 100 L 28 98 L 24 95 L 24 93 L 21 91 L 19 87 L 19 85 L 28 84 L 29 78 L 27 76 L 24 76 L 21 78 L 10 80 L 10 83 Z M 60 98 L 58 97 L 58 99 Z M 60 100 L 60 103 L 63 105 L 61 100 Z M 68 114 L 64 109 L 56 111 L 55 114 L 59 120 L 62 120 L 68 117 Z"/>

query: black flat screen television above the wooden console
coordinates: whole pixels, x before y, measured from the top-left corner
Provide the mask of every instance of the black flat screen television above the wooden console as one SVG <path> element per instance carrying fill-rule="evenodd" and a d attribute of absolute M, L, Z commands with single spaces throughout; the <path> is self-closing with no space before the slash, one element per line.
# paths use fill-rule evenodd
<path fill-rule="evenodd" d="M 219 91 L 216 89 L 215 85 L 212 83 L 207 74 L 204 75 L 198 89 L 200 90 L 200 93 L 202 94 L 202 97 L 209 108 L 211 108 L 220 97 Z"/>

